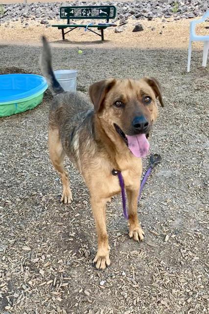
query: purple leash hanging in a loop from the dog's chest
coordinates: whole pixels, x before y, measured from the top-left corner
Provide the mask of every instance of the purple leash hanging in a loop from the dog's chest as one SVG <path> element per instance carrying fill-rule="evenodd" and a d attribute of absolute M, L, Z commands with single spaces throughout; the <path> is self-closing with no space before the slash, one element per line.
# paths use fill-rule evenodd
<path fill-rule="evenodd" d="M 152 169 L 161 162 L 161 155 L 159 154 L 151 154 L 150 156 L 150 167 L 149 169 L 147 170 L 147 172 L 145 173 L 145 176 L 143 177 L 143 180 L 141 182 L 141 186 L 140 186 L 140 190 L 139 190 L 139 196 L 138 196 L 138 201 L 141 197 L 141 192 L 143 190 L 143 187 L 144 187 L 144 184 L 146 183 L 147 181 L 147 178 L 149 177 Z M 128 220 L 128 212 L 127 212 L 127 209 L 126 209 L 126 197 L 125 197 L 125 186 L 124 186 L 124 181 L 123 181 L 123 176 L 121 174 L 121 171 L 119 170 L 115 170 L 113 169 L 112 171 L 112 174 L 114 176 L 118 176 L 118 180 L 119 180 L 119 183 L 120 183 L 120 187 L 121 187 L 121 196 L 122 196 L 122 204 L 123 204 L 123 216 L 126 220 Z"/>

